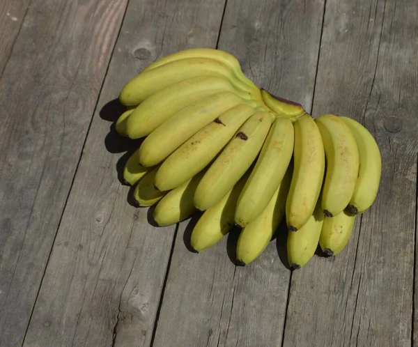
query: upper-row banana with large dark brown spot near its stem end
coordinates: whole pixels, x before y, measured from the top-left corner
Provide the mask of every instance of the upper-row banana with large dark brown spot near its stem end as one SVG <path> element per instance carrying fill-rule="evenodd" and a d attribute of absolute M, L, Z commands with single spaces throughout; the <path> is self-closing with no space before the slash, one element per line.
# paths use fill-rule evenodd
<path fill-rule="evenodd" d="M 210 208 L 232 189 L 256 159 L 271 124 L 272 117 L 265 112 L 256 112 L 245 121 L 201 179 L 194 194 L 196 208 Z"/>

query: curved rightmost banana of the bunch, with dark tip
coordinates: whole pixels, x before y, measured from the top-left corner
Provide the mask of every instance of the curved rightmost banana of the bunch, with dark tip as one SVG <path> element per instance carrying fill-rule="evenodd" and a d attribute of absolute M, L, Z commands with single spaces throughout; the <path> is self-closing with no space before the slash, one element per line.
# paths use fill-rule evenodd
<path fill-rule="evenodd" d="M 340 117 L 354 135 L 359 150 L 359 175 L 348 208 L 351 213 L 363 213 L 376 199 L 382 174 L 382 157 L 378 144 L 369 130 L 354 119 Z"/>

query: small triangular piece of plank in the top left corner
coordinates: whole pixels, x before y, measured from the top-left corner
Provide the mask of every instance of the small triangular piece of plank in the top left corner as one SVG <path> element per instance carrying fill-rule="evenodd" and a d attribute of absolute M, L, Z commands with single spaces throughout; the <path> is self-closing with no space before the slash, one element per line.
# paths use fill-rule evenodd
<path fill-rule="evenodd" d="M 0 1 L 0 79 L 20 31 L 29 0 Z"/>

